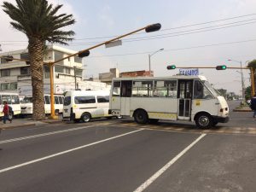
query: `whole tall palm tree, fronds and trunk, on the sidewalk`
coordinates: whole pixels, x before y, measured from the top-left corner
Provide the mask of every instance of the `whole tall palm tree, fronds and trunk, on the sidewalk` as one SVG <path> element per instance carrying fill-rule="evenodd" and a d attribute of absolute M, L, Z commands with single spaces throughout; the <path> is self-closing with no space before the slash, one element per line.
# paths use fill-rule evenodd
<path fill-rule="evenodd" d="M 73 31 L 61 28 L 73 25 L 73 15 L 56 15 L 62 5 L 53 6 L 47 0 L 16 0 L 16 6 L 3 2 L 3 11 L 13 20 L 16 30 L 28 38 L 28 53 L 32 73 L 32 119 L 45 119 L 44 113 L 44 47 L 46 43 L 67 44 Z"/>

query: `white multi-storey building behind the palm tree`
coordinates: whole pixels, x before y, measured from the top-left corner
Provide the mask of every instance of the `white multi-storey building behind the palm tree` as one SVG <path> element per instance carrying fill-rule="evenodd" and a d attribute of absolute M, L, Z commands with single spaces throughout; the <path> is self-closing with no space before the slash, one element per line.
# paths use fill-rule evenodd
<path fill-rule="evenodd" d="M 76 51 L 50 45 L 44 55 L 44 62 L 60 60 Z M 13 56 L 16 59 L 29 60 L 28 50 L 21 49 L 1 53 L 0 56 Z M 20 96 L 32 94 L 32 80 L 30 66 L 26 61 L 8 61 L 1 57 L 0 61 L 0 91 L 18 92 Z M 83 79 L 83 64 L 79 56 L 70 57 L 57 62 L 54 67 L 55 94 L 62 94 L 66 90 L 103 90 L 107 85 L 100 82 L 86 82 Z M 49 94 L 49 66 L 44 64 L 44 93 Z"/>

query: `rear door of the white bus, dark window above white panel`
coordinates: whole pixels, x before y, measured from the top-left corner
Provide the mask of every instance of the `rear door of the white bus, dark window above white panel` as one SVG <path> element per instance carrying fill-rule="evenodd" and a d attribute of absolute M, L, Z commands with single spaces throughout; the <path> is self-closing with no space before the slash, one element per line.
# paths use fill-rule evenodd
<path fill-rule="evenodd" d="M 121 114 L 130 115 L 132 81 L 121 81 Z"/>

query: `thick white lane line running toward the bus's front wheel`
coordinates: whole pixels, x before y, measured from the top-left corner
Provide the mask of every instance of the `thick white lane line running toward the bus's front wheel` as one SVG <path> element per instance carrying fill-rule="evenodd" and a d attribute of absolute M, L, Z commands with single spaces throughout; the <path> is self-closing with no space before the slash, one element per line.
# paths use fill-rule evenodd
<path fill-rule="evenodd" d="M 193 143 L 189 144 L 187 148 L 184 148 L 182 152 L 177 154 L 172 160 L 170 160 L 165 166 L 163 166 L 158 172 L 155 172 L 152 177 L 149 177 L 147 181 L 145 181 L 141 186 L 139 186 L 136 190 L 133 192 L 142 192 L 144 189 L 148 188 L 148 186 L 155 181 L 158 177 L 160 177 L 161 174 L 166 172 L 166 170 L 172 166 L 180 157 L 183 156 L 190 148 L 192 148 L 195 143 L 198 143 L 202 137 L 205 137 L 207 134 L 201 134 L 200 137 L 198 137 Z"/>

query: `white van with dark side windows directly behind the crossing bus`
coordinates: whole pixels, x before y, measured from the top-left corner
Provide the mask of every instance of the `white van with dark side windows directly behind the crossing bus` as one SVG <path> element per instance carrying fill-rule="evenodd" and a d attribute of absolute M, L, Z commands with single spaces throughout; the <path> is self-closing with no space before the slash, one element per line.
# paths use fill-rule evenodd
<path fill-rule="evenodd" d="M 88 122 L 92 118 L 113 117 L 108 114 L 109 91 L 72 90 L 64 97 L 63 120 Z"/>

